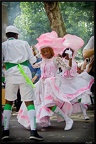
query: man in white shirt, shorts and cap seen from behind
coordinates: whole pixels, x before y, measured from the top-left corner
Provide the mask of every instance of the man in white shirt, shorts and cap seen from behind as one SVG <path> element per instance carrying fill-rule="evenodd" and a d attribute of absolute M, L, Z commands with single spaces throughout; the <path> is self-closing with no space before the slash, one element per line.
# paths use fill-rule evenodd
<path fill-rule="evenodd" d="M 28 68 L 28 61 L 33 64 L 36 57 L 32 53 L 32 49 L 26 41 L 18 39 L 19 30 L 15 26 L 6 28 L 7 41 L 2 43 L 2 63 L 5 64 L 5 99 L 4 106 L 4 129 L 2 131 L 2 140 L 9 140 L 9 123 L 12 112 L 13 101 L 17 99 L 18 87 L 20 88 L 21 101 L 24 101 L 30 120 L 30 139 L 43 140 L 44 138 L 37 133 L 36 130 L 36 111 L 34 107 L 33 88 L 20 71 L 18 64 L 21 65 L 25 75 L 32 79 L 31 71 Z"/>

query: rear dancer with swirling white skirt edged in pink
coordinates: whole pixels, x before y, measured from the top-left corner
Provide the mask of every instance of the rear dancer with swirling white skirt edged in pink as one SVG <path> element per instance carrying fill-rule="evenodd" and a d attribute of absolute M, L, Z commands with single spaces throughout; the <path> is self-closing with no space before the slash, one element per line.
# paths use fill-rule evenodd
<path fill-rule="evenodd" d="M 74 51 L 72 48 L 66 48 L 62 53 L 62 58 L 65 63 L 69 63 L 70 70 L 62 71 L 60 74 L 60 89 L 69 98 L 73 105 L 73 112 L 83 112 L 84 119 L 89 120 L 86 114 L 88 105 L 91 104 L 90 88 L 94 82 L 94 78 L 90 76 L 87 71 L 81 74 L 77 73 L 77 64 L 74 60 Z"/>

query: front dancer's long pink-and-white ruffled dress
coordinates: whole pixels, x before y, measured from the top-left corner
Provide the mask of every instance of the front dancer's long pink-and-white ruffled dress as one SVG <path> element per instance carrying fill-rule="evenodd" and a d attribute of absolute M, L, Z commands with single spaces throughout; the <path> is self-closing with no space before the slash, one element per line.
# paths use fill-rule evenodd
<path fill-rule="evenodd" d="M 48 107 L 55 105 L 61 107 L 61 105 L 65 103 L 66 107 L 64 108 L 64 110 L 66 111 L 66 113 L 71 114 L 72 112 L 72 104 L 60 90 L 60 88 L 57 86 L 55 87 L 55 84 L 51 87 L 49 84 L 49 81 L 53 82 L 54 78 L 59 76 L 57 74 L 57 70 L 59 67 L 62 67 L 63 70 L 70 69 L 70 67 L 62 61 L 62 58 L 59 57 L 53 57 L 52 59 L 43 59 L 40 65 L 41 78 L 35 84 L 34 104 L 36 108 L 36 122 L 43 127 L 49 125 L 50 116 L 54 114 Z M 56 81 L 56 83 L 58 84 L 58 81 Z M 21 104 L 17 119 L 18 122 L 25 128 L 30 128 L 27 108 L 24 102 Z M 57 116 L 57 120 L 61 121 L 64 119 Z"/>

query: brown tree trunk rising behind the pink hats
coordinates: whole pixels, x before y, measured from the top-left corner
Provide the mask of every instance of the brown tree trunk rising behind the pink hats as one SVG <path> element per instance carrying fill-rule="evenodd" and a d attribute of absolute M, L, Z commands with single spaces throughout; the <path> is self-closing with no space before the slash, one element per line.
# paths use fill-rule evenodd
<path fill-rule="evenodd" d="M 43 2 L 46 14 L 50 21 L 50 27 L 56 31 L 59 37 L 66 34 L 66 28 L 62 19 L 58 2 Z"/>

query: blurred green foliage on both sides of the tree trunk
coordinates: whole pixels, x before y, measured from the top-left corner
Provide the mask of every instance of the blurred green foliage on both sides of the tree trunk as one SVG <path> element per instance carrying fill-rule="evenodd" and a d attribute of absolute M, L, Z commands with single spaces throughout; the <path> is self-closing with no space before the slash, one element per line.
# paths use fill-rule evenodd
<path fill-rule="evenodd" d="M 20 38 L 36 44 L 36 38 L 50 32 L 50 23 L 43 2 L 5 2 L 9 24 L 20 30 Z M 85 44 L 94 35 L 94 2 L 59 2 L 66 32 L 83 38 Z M 78 51 L 82 58 L 82 49 Z"/>

